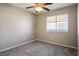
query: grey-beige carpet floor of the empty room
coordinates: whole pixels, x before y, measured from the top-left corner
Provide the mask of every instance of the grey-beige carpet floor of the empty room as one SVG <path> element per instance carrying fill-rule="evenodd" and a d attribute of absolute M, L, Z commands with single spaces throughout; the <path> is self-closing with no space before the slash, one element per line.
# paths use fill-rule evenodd
<path fill-rule="evenodd" d="M 29 44 L 0 52 L 0 56 L 76 56 L 77 50 L 34 41 Z"/>

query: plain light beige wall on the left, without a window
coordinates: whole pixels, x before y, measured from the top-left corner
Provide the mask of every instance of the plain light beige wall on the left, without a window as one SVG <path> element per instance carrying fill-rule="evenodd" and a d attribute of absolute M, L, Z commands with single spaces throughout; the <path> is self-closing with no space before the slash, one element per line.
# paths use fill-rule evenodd
<path fill-rule="evenodd" d="M 0 4 L 0 50 L 31 41 L 33 28 L 33 14 Z"/>

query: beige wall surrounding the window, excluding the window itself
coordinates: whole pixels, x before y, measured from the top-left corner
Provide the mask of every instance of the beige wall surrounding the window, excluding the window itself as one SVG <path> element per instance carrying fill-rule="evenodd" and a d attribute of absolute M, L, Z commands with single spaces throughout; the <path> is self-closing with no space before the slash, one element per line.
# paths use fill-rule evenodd
<path fill-rule="evenodd" d="M 61 14 L 69 14 L 68 32 L 47 32 L 46 17 Z M 77 47 L 77 6 L 73 5 L 37 15 L 36 38 L 39 40 Z"/>

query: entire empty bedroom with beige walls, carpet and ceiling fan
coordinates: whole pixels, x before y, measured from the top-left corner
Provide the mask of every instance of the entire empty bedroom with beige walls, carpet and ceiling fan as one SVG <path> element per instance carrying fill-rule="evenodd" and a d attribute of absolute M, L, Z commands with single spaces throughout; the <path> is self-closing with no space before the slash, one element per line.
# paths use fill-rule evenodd
<path fill-rule="evenodd" d="M 0 56 L 77 56 L 76 3 L 0 3 Z"/>

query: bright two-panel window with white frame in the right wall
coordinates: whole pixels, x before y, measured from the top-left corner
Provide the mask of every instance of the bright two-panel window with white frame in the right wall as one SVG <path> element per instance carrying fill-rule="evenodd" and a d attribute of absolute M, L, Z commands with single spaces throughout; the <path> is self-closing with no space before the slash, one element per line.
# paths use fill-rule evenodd
<path fill-rule="evenodd" d="M 47 17 L 47 31 L 68 32 L 68 14 Z"/>

